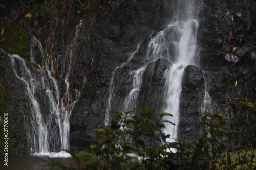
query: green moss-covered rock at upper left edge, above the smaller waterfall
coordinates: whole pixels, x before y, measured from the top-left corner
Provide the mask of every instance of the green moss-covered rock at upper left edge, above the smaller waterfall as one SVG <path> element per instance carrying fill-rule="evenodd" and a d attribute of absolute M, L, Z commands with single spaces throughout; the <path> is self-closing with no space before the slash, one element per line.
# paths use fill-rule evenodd
<path fill-rule="evenodd" d="M 7 26 L 0 23 L 0 48 L 5 51 L 18 54 L 24 59 L 27 59 L 29 54 L 29 36 L 27 31 L 17 26 Z"/>

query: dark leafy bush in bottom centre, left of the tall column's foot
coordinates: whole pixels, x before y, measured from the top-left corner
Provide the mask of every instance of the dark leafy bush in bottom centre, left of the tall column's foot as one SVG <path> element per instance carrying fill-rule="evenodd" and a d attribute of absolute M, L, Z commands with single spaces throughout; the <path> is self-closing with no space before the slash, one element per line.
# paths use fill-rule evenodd
<path fill-rule="evenodd" d="M 135 111 L 139 115 L 135 115 Z M 169 166 L 165 156 L 170 154 L 166 152 L 170 148 L 163 143 L 167 136 L 162 128 L 165 122 L 163 117 L 171 115 L 159 112 L 157 120 L 149 113 L 148 109 L 117 112 L 113 114 L 115 119 L 110 126 L 93 129 L 97 144 L 91 145 L 91 149 L 103 162 L 104 168 L 160 169 Z"/>

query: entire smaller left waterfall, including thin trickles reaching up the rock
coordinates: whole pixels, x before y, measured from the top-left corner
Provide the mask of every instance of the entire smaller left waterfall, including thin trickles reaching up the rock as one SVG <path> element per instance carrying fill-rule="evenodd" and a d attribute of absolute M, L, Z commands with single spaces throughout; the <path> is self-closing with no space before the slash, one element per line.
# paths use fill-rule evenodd
<path fill-rule="evenodd" d="M 30 103 L 31 113 L 26 115 L 26 117 L 29 116 L 26 131 L 31 153 L 36 155 L 49 155 L 52 157 L 70 156 L 63 152 L 55 152 L 60 151 L 60 149 L 69 150 L 69 119 L 74 103 L 78 101 L 80 96 L 80 92 L 75 89 L 71 92 L 69 77 L 74 57 L 73 48 L 78 38 L 78 32 L 82 24 L 81 21 L 76 27 L 75 36 L 68 49 L 70 56 L 62 61 L 62 64 L 67 66 L 67 69 L 60 71 L 59 77 L 55 76 L 58 68 L 54 68 L 54 59 L 51 56 L 45 56 L 45 59 L 42 61 L 42 67 L 36 65 L 33 58 L 34 46 L 37 45 L 39 47 L 41 54 L 45 53 L 39 40 L 33 36 L 31 42 L 35 44 L 31 45 L 32 57 L 30 62 L 18 55 L 8 54 L 13 72 L 18 80 L 24 84 L 25 94 L 28 96 Z M 33 71 L 31 71 L 32 69 Z M 62 77 L 61 80 L 60 77 Z M 65 85 L 65 87 L 62 87 L 64 90 L 61 90 L 60 81 L 65 82 L 62 83 Z"/>

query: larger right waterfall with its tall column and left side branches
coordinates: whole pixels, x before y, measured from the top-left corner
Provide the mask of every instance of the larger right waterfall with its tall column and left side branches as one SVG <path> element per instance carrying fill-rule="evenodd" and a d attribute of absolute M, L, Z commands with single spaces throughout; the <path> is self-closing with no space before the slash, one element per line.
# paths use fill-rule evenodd
<path fill-rule="evenodd" d="M 175 127 L 170 125 L 165 126 L 164 132 L 172 136 L 169 142 L 177 138 L 180 95 L 182 89 L 181 80 L 184 68 L 187 65 L 197 64 L 195 54 L 197 51 L 198 21 L 196 13 L 191 13 L 195 3 L 196 2 L 193 0 L 175 2 L 177 6 L 174 9 L 172 23 L 151 38 L 150 43 L 148 43 L 146 56 L 144 57 L 144 64 L 139 69 L 130 72 L 133 88 L 126 95 L 123 104 L 125 111 L 136 107 L 136 100 L 138 99 L 140 86 L 142 84 L 142 76 L 149 63 L 159 58 L 165 58 L 172 62 L 173 65 L 170 66 L 164 74 L 164 79 L 166 80 L 164 86 L 164 101 L 162 108 L 159 108 L 164 112 L 173 114 L 173 117 L 169 117 L 167 120 L 176 124 Z M 115 71 L 116 70 L 117 68 Z M 113 76 L 114 74 L 112 74 L 110 87 L 114 86 Z M 113 90 L 113 88 L 111 89 Z M 110 90 L 110 96 L 113 95 L 113 92 L 114 91 Z M 111 102 L 109 101 L 108 107 L 111 107 L 110 105 Z"/>

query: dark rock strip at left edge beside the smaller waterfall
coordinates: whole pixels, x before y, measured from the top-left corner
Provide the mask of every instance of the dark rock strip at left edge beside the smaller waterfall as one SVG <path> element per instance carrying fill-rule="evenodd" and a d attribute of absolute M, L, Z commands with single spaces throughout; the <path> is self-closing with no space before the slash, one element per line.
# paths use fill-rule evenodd
<path fill-rule="evenodd" d="M 27 151 L 29 151 L 29 147 L 26 147 L 27 145 L 25 145 L 25 143 L 28 142 L 26 128 L 24 126 L 27 118 L 25 119 L 23 114 L 28 115 L 31 109 L 29 107 L 28 96 L 23 93 L 26 87 L 22 82 L 15 80 L 15 75 L 11 70 L 12 66 L 8 59 L 9 57 L 5 55 L 2 60 L 6 68 L 1 66 L 1 70 L 3 71 L 0 71 L 0 82 L 4 85 L 7 92 L 6 111 L 8 113 L 8 122 L 11 126 L 10 132 L 12 133 L 14 143 L 13 152 L 15 154 L 26 154 Z"/>

